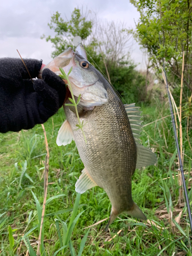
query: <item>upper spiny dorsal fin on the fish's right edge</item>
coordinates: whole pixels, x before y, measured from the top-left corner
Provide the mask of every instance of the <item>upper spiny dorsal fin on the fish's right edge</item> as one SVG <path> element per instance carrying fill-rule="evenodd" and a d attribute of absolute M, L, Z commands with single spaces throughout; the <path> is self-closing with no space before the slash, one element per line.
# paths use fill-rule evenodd
<path fill-rule="evenodd" d="M 141 133 L 141 129 L 142 129 L 142 121 L 141 119 L 141 111 L 139 111 L 140 107 L 139 106 L 135 106 L 135 103 L 131 103 L 131 104 L 125 104 L 124 105 L 127 116 L 129 118 L 130 121 L 130 125 L 131 125 L 131 129 L 133 132 L 133 136 L 136 142 L 140 143 L 140 133 Z"/>

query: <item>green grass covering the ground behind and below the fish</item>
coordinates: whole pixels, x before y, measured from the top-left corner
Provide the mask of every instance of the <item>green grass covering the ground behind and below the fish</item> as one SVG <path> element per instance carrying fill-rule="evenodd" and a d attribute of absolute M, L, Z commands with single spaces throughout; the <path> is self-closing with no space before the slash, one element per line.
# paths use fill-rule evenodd
<path fill-rule="evenodd" d="M 158 108 L 142 106 L 143 124 L 169 115 L 167 108 L 168 105 L 164 103 L 159 103 Z M 173 255 L 174 252 L 174 255 L 192 255 L 188 241 L 189 231 L 186 228 L 186 208 L 183 209 L 181 220 L 179 224 L 176 223 L 175 228 L 171 227 L 166 216 L 159 218 L 170 211 L 173 211 L 173 219 L 179 215 L 179 211 L 174 210 L 179 209 L 179 185 L 178 179 L 174 179 L 178 173 L 178 166 L 170 118 L 144 127 L 142 142 L 145 145 L 150 143 L 158 156 L 158 163 L 144 170 L 137 169 L 132 178 L 133 199 L 153 222 L 142 223 L 127 215 L 120 215 L 120 219 L 115 220 L 107 234 L 103 232 L 107 221 L 90 228 L 89 233 L 88 229 L 84 229 L 109 217 L 111 204 L 103 189 L 99 187 L 82 194 L 78 205 L 77 201 L 75 204 L 75 183 L 83 164 L 74 141 L 65 147 L 56 145 L 57 133 L 63 120 L 63 110 L 60 109 L 58 114 L 45 123 L 50 161 L 43 230 L 45 251 L 41 251 L 41 254 L 56 255 L 58 251 L 57 255 L 80 255 L 78 253 L 85 244 L 82 255 L 154 256 Z M 183 132 L 185 133 L 184 128 Z M 188 157 L 184 159 L 184 170 L 188 172 L 191 170 L 191 152 L 187 141 L 185 154 Z M 19 247 L 20 255 L 24 255 L 29 244 L 36 252 L 44 197 L 45 155 L 46 147 L 41 125 L 30 131 L 0 134 L 1 255 L 16 255 Z M 164 180 L 167 177 L 170 178 Z M 186 179 L 189 178 L 189 175 L 186 175 Z M 188 184 L 187 181 L 187 185 L 191 186 L 191 183 Z M 189 189 L 191 203 L 190 191 Z M 164 212 L 158 214 L 157 210 Z M 75 223 L 69 231 L 73 221 Z M 119 230 L 122 231 L 117 234 Z M 113 239 L 108 241 L 111 238 Z"/>

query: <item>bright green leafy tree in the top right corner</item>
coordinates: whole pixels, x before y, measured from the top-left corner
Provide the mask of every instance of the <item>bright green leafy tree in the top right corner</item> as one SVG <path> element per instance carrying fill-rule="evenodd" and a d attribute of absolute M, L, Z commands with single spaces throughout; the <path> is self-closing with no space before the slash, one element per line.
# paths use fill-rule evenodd
<path fill-rule="evenodd" d="M 131 3 L 140 12 L 134 35 L 139 44 L 146 49 L 151 66 L 157 74 L 161 73 L 164 57 L 169 80 L 172 84 L 178 84 L 181 81 L 182 55 L 185 51 L 184 83 L 192 92 L 191 1 L 131 0 Z"/>

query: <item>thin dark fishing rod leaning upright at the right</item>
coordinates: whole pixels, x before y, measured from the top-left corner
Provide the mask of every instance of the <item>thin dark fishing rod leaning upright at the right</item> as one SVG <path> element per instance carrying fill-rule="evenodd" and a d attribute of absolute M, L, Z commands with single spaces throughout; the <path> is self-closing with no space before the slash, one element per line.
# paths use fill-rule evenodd
<path fill-rule="evenodd" d="M 159 42 L 161 44 L 160 35 L 159 35 Z M 176 123 L 175 123 L 175 118 L 174 118 L 174 113 L 173 113 L 173 108 L 172 108 L 172 102 L 170 100 L 170 94 L 169 94 L 169 90 L 168 90 L 167 76 L 166 76 L 166 71 L 165 71 L 165 65 L 164 65 L 163 57 L 162 57 L 162 61 L 163 61 L 163 71 L 164 71 L 164 74 L 165 74 L 165 82 L 166 82 L 165 88 L 167 89 L 168 102 L 169 102 L 169 108 L 170 108 L 170 115 L 172 117 L 172 124 L 173 124 L 173 129 L 174 129 L 174 137 L 175 137 L 175 142 L 176 142 L 176 147 L 177 147 L 177 154 L 178 154 L 178 158 L 179 158 L 180 168 L 178 170 L 180 170 L 180 172 L 181 172 L 183 188 L 184 188 L 184 194 L 185 194 L 185 200 L 186 200 L 186 204 L 187 204 L 189 223 L 190 223 L 190 231 L 192 233 L 191 210 L 190 210 L 190 204 L 189 204 L 189 199 L 188 199 L 188 193 L 187 193 L 187 187 L 186 187 L 186 182 L 185 182 L 185 176 L 184 176 L 184 172 L 183 172 L 183 163 L 182 163 L 182 160 L 181 160 L 179 142 L 178 142 L 177 131 L 176 131 Z"/>

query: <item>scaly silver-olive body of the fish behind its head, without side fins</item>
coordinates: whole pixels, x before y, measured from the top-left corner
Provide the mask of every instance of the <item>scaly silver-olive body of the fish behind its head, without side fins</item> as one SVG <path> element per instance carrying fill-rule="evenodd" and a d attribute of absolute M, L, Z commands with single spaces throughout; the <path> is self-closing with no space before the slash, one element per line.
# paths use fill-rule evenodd
<path fill-rule="evenodd" d="M 100 75 L 100 74 L 99 74 Z M 101 75 L 100 75 L 101 76 Z M 64 106 L 71 125 L 80 158 L 95 183 L 102 187 L 112 203 L 110 222 L 123 211 L 146 219 L 132 199 L 132 175 L 137 162 L 137 146 L 124 105 L 111 85 L 103 77 L 109 102 L 96 106 L 83 121 L 83 132 L 76 130 L 76 114 Z M 76 189 L 83 193 L 83 187 Z M 106 228 L 108 229 L 108 227 Z"/>

